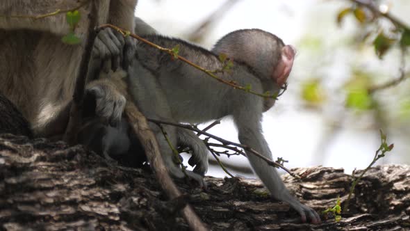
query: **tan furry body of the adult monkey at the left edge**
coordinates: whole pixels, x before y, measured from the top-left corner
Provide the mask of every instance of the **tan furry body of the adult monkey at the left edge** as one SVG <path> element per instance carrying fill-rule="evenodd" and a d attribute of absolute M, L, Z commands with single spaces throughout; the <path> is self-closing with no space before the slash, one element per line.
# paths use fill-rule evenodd
<path fill-rule="evenodd" d="M 22 111 L 35 136 L 54 136 L 65 130 L 83 54 L 83 37 L 87 35 L 91 1 L 0 1 L 0 92 Z M 133 30 L 136 3 L 137 0 L 95 1 L 97 23 L 111 23 Z M 69 31 L 65 14 L 33 18 L 81 4 L 79 11 L 83 17 L 76 28 L 76 34 L 82 36 L 81 45 L 61 42 Z M 109 49 L 101 47 L 100 51 L 101 57 L 110 58 Z M 113 59 L 113 63 L 117 60 Z M 113 113 L 103 116 L 110 119 Z"/>

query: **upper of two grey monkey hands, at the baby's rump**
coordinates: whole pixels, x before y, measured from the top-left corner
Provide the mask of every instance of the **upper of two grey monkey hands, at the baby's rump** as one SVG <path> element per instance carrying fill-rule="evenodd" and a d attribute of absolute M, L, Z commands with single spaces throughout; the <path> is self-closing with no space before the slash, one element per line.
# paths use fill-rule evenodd
<path fill-rule="evenodd" d="M 117 70 L 118 67 L 127 70 L 136 51 L 136 43 L 133 38 L 126 36 L 110 28 L 103 29 L 95 38 L 92 48 L 92 58 L 98 60 L 100 68 L 108 73 Z"/>

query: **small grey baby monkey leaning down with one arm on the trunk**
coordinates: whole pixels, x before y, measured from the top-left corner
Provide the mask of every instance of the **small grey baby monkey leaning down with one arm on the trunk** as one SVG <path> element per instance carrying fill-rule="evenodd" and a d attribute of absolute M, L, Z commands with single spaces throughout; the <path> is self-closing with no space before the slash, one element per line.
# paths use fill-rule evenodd
<path fill-rule="evenodd" d="M 288 79 L 295 58 L 292 46 L 285 45 L 276 35 L 259 29 L 233 31 L 221 38 L 211 51 L 162 35 L 142 37 L 161 47 L 179 45 L 180 56 L 206 70 L 222 70 L 224 63 L 218 56 L 226 54 L 233 60 L 233 66 L 229 71 L 217 72 L 218 77 L 239 86 L 252 86 L 252 90 L 258 93 L 278 93 Z M 215 81 L 195 67 L 174 60 L 170 54 L 142 42 L 137 42 L 135 56 L 126 72 L 133 102 L 147 118 L 201 123 L 231 116 L 238 129 L 240 143 L 272 159 L 261 127 L 262 113 L 274 105 L 275 99 L 272 97 L 259 97 Z M 150 126 L 156 134 L 170 174 L 178 178 L 187 174 L 195 180 L 201 180 L 208 170 L 208 151 L 204 143 L 191 131 L 163 126 L 174 147 L 178 143 L 195 146 L 189 162 L 195 165 L 195 169 L 192 172 L 187 170 L 184 174 L 174 163 L 172 150 L 161 129 L 153 123 Z M 118 142 L 121 143 L 122 139 L 118 139 Z M 305 222 L 307 217 L 312 223 L 320 222 L 320 217 L 313 209 L 290 195 L 275 168 L 252 153 L 247 153 L 247 158 L 273 198 L 288 202 L 300 213 L 302 221 Z"/>

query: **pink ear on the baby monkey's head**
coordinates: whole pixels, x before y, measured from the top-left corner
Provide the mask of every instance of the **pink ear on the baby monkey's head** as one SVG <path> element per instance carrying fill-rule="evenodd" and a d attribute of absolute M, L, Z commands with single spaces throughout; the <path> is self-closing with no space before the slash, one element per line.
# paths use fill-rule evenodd
<path fill-rule="evenodd" d="M 282 47 L 281 58 L 279 58 L 278 64 L 273 72 L 273 80 L 278 86 L 284 85 L 290 71 L 292 70 L 293 60 L 295 59 L 296 50 L 291 45 Z"/>

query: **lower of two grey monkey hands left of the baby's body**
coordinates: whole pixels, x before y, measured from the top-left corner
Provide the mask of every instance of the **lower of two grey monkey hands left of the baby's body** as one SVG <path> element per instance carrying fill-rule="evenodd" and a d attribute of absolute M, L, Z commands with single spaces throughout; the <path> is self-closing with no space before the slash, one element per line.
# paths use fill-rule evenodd
<path fill-rule="evenodd" d="M 121 122 L 126 99 L 113 84 L 105 80 L 91 82 L 84 95 L 84 105 L 91 105 L 91 116 L 103 118 L 113 127 Z"/>

